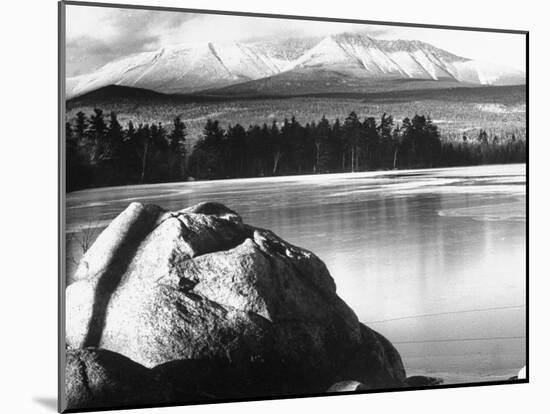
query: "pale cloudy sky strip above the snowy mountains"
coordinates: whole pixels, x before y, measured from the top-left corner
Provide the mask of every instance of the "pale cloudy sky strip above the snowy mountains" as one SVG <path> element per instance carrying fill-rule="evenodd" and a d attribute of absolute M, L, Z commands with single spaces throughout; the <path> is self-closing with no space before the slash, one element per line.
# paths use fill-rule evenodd
<path fill-rule="evenodd" d="M 67 6 L 67 76 L 131 53 L 200 41 L 365 31 L 377 39 L 416 39 L 471 59 L 525 71 L 525 36 L 382 25 Z"/>

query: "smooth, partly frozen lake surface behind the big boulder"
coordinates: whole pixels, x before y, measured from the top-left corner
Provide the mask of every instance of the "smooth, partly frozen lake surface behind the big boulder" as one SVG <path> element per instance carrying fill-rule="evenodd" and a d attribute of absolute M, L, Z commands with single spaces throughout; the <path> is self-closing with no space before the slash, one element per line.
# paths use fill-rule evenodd
<path fill-rule="evenodd" d="M 68 273 L 75 240 L 132 201 L 219 201 L 315 252 L 408 375 L 504 379 L 526 362 L 525 189 L 525 165 L 505 165 L 79 191 L 67 197 Z"/>

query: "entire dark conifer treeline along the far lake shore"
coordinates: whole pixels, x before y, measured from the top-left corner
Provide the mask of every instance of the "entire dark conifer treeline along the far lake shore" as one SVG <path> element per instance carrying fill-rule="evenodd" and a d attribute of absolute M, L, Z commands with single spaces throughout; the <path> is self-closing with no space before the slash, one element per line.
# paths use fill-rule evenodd
<path fill-rule="evenodd" d="M 186 126 L 179 117 L 161 123 L 129 122 L 115 113 L 104 119 L 95 109 L 79 112 L 66 124 L 67 190 L 157 183 L 186 179 L 221 179 L 274 175 L 355 172 L 378 169 L 525 162 L 522 139 L 489 136 L 480 130 L 458 142 L 442 142 L 429 117 L 415 115 L 396 123 L 360 119 L 355 112 L 341 122 L 322 117 L 300 124 L 295 117 L 270 125 L 240 124 L 223 129 L 208 120 L 190 151 Z"/>

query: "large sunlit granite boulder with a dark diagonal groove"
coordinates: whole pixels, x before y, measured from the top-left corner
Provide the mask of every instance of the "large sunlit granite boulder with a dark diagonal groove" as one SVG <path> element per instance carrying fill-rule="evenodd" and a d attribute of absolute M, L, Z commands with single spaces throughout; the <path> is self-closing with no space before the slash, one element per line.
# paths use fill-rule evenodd
<path fill-rule="evenodd" d="M 359 323 L 325 264 L 217 203 L 177 212 L 132 203 L 66 291 L 71 349 L 111 350 L 185 393 L 401 386 L 392 344 Z"/>

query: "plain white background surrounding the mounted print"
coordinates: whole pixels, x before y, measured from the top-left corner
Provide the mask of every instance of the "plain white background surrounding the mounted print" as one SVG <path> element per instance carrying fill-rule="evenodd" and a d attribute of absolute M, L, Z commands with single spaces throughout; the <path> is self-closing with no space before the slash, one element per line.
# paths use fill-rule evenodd
<path fill-rule="evenodd" d="M 131 410 L 127 413 L 544 412 L 550 292 L 548 234 L 548 78 L 550 39 L 543 2 L 462 0 L 126 0 L 129 4 L 328 16 L 531 32 L 530 62 L 530 358 L 531 383 L 341 398 Z M 2 39 L 2 382 L 4 412 L 55 412 L 57 387 L 57 5 L 55 0 L 6 2 Z M 6 191 L 7 190 L 7 191 Z M 7 231 L 6 231 L 7 230 Z"/>

